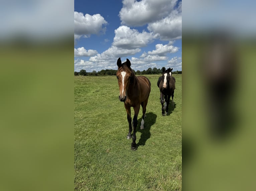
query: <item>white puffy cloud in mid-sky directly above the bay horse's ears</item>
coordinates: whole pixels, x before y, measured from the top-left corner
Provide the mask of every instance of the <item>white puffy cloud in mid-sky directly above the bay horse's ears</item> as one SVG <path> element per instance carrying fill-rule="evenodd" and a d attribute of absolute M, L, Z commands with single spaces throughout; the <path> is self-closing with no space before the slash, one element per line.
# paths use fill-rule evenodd
<path fill-rule="evenodd" d="M 112 45 L 123 49 L 137 49 L 147 46 L 153 39 L 154 36 L 152 33 L 145 31 L 140 33 L 136 29 L 120 26 L 115 30 L 114 42 Z"/>

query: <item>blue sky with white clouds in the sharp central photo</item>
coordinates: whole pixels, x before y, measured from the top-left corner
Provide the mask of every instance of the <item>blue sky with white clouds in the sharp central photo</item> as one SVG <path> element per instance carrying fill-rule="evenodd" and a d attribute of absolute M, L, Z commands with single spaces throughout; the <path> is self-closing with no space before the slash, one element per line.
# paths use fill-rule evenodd
<path fill-rule="evenodd" d="M 181 1 L 75 0 L 74 68 L 117 69 L 128 58 L 135 71 L 181 70 Z"/>

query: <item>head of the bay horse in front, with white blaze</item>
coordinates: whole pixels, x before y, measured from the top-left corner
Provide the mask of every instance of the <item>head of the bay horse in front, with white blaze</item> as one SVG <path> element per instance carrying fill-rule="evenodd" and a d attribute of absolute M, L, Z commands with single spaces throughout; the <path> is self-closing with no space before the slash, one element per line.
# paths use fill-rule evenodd
<path fill-rule="evenodd" d="M 122 64 L 121 58 L 119 58 L 117 60 L 117 66 L 116 77 L 119 85 L 119 99 L 120 101 L 125 101 L 129 84 L 132 83 L 133 80 L 133 72 L 130 68 L 131 62 L 129 59 L 126 59 L 126 62 Z"/>

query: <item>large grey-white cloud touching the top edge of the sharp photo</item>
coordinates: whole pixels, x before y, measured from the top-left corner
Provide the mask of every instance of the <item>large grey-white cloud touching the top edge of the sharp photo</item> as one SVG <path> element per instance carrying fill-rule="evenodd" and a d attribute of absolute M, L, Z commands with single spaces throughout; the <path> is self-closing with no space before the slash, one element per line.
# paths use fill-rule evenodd
<path fill-rule="evenodd" d="M 119 12 L 121 24 L 143 26 L 169 15 L 177 0 L 123 0 Z"/>

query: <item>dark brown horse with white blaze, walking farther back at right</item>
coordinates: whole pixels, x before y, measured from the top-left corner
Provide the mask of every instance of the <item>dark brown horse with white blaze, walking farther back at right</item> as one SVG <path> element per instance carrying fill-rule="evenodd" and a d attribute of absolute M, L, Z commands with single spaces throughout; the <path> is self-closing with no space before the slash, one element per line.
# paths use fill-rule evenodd
<path fill-rule="evenodd" d="M 160 89 L 160 99 L 162 104 L 162 115 L 165 116 L 164 110 L 166 109 L 166 114 L 168 114 L 170 97 L 172 97 L 171 104 L 173 103 L 174 89 L 175 89 L 175 78 L 171 76 L 172 69 L 163 69 L 162 76 L 159 77 L 157 81 L 157 86 Z M 164 103 L 165 102 L 165 103 Z"/>

